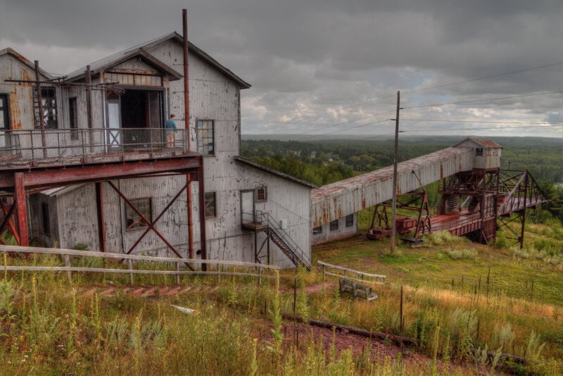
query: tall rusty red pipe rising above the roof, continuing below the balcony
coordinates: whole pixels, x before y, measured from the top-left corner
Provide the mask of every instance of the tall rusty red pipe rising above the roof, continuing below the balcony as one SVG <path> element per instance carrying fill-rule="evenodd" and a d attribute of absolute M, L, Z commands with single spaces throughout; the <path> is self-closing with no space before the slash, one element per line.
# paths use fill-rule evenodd
<path fill-rule="evenodd" d="M 188 66 L 188 11 L 187 9 L 182 9 L 182 32 L 184 35 L 184 127 L 186 128 L 186 138 L 188 151 L 190 151 L 190 132 L 189 132 L 189 66 Z M 203 167 L 202 167 L 203 168 Z M 191 178 L 189 174 L 186 174 L 187 183 L 187 201 L 188 201 L 188 242 L 189 242 L 189 258 L 194 258 L 194 218 L 193 213 L 191 213 L 192 198 L 191 198 Z M 201 187 L 202 183 L 200 183 Z M 200 196 L 204 193 L 200 190 Z M 200 199 L 201 201 L 201 199 Z M 200 211 L 203 211 L 203 206 L 200 207 Z M 201 216 L 201 215 L 200 215 Z M 203 227 L 205 227 L 205 220 L 199 223 L 201 227 L 201 232 L 203 233 Z"/>

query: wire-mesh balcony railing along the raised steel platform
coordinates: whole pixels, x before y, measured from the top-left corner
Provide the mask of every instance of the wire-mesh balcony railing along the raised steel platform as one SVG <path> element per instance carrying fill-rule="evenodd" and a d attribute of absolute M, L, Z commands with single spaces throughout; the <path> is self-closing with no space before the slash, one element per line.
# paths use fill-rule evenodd
<path fill-rule="evenodd" d="M 188 151 L 187 134 L 158 128 L 0 130 L 0 165 L 171 156 Z"/>

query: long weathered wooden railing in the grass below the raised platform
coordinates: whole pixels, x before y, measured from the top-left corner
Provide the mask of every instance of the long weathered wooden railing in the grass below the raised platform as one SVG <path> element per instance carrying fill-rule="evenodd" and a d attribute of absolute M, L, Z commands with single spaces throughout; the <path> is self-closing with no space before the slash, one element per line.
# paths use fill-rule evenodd
<path fill-rule="evenodd" d="M 108 253 L 108 252 L 95 252 L 95 251 L 77 251 L 75 249 L 53 249 L 53 248 L 39 248 L 28 246 L 6 246 L 0 245 L 0 252 L 10 253 L 39 253 L 39 254 L 53 254 L 63 258 L 65 266 L 29 266 L 29 265 L 6 265 L 4 263 L 3 269 L 5 271 L 60 271 L 68 273 L 68 280 L 72 280 L 72 272 L 103 272 L 103 273 L 121 273 L 129 274 L 129 280 L 133 284 L 133 276 L 136 274 L 158 274 L 158 275 L 176 275 L 177 283 L 179 283 L 180 275 L 235 275 L 242 277 L 256 277 L 261 282 L 262 278 L 274 278 L 273 275 L 262 274 L 264 269 L 279 270 L 276 265 L 264 265 L 260 263 L 245 263 L 241 261 L 227 261 L 227 260 L 201 260 L 191 258 L 177 258 L 177 257 L 153 257 L 153 256 L 139 256 L 130 255 L 125 253 Z M 127 266 L 126 269 L 118 268 L 84 268 L 70 265 L 70 256 L 75 257 L 97 257 L 104 259 L 114 259 L 124 261 Z M 6 260 L 6 258 L 4 258 Z M 155 263 L 171 263 L 175 265 L 175 270 L 140 270 L 135 269 L 134 261 L 152 261 Z M 203 270 L 182 270 L 181 265 L 191 263 L 194 265 L 216 265 L 217 270 L 203 271 Z M 232 268 L 232 270 L 225 270 Z M 239 270 L 237 270 L 239 269 Z"/>

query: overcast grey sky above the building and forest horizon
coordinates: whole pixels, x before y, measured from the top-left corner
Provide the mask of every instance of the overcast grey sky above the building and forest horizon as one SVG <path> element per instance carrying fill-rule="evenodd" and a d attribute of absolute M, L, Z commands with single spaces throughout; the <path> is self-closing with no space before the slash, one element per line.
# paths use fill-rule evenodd
<path fill-rule="evenodd" d="M 405 134 L 563 137 L 561 0 L 0 0 L 0 49 L 70 73 L 181 33 L 182 8 L 190 41 L 253 85 L 244 134 L 376 139 L 400 90 Z"/>

